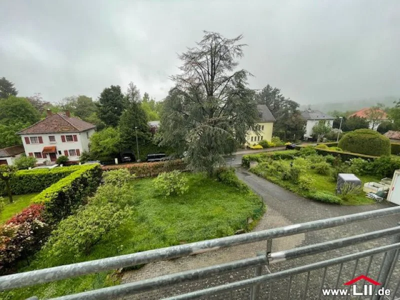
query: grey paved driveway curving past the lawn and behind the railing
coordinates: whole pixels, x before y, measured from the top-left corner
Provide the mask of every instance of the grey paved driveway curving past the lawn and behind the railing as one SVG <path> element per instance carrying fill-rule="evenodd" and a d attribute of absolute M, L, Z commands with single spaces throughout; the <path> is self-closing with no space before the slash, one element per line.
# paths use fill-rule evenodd
<path fill-rule="evenodd" d="M 311 201 L 302 197 L 299 197 L 267 180 L 264 180 L 254 174 L 247 172 L 243 168 L 237 168 L 238 177 L 246 182 L 255 192 L 262 196 L 263 200 L 267 205 L 267 211 L 259 221 L 258 225 L 254 230 L 263 230 L 283 225 L 295 224 L 304 221 L 322 219 L 332 216 L 339 216 L 345 214 L 351 214 L 361 211 L 367 211 L 372 209 L 379 209 L 389 207 L 388 203 L 374 204 L 374 205 L 362 205 L 362 206 L 338 206 L 325 204 L 320 202 Z M 329 228 L 324 230 L 313 231 L 305 234 L 297 234 L 288 237 L 276 238 L 273 240 L 272 251 L 279 251 L 288 249 L 300 245 L 321 242 L 340 238 L 344 236 L 350 236 L 354 234 L 360 234 L 367 231 L 373 231 L 380 228 L 393 226 L 397 223 L 397 216 L 390 216 L 381 218 L 378 220 L 367 220 L 358 223 L 353 223 L 347 226 L 339 226 L 336 228 Z M 340 256 L 344 253 L 361 251 L 372 246 L 386 244 L 391 242 L 392 238 L 384 238 L 380 240 L 371 241 L 364 244 L 353 245 L 350 247 L 342 248 L 339 250 L 332 250 L 322 254 L 306 256 L 296 258 L 281 263 L 272 264 L 268 267 L 263 267 L 263 273 L 275 272 L 281 269 L 302 265 L 306 263 L 315 262 L 321 259 L 327 259 L 334 256 Z M 125 272 L 122 278 L 123 282 L 131 282 L 135 280 L 150 278 L 155 275 L 164 275 L 177 271 L 183 271 L 192 268 L 204 267 L 217 263 L 224 263 L 231 260 L 241 259 L 245 257 L 251 257 L 256 254 L 257 251 L 265 251 L 265 242 L 256 242 L 252 244 L 239 245 L 219 249 L 213 252 L 206 252 L 203 254 L 182 257 L 173 260 L 159 261 L 154 263 L 148 263 L 141 269 L 136 271 Z M 375 255 L 373 257 L 371 267 L 369 269 L 369 275 L 376 277 L 378 269 L 380 267 L 383 255 Z M 357 267 L 356 274 L 365 273 L 368 259 L 360 259 Z M 352 272 L 354 270 L 355 263 L 348 262 L 342 267 L 341 276 L 338 282 L 346 282 L 352 279 Z M 338 267 L 329 267 L 326 271 L 325 286 L 332 287 L 335 285 L 337 280 Z M 180 294 L 183 292 L 192 291 L 198 288 L 215 286 L 235 280 L 241 280 L 249 278 L 254 275 L 253 269 L 240 270 L 222 274 L 218 276 L 211 276 L 206 279 L 197 280 L 190 283 L 176 284 L 168 286 L 167 288 L 157 289 L 151 292 L 145 292 L 138 295 L 128 297 L 129 299 L 159 299 L 166 296 Z M 315 299 L 318 296 L 320 290 L 320 278 L 322 277 L 322 270 L 315 270 L 310 273 L 310 280 L 307 289 L 306 299 Z M 396 266 L 393 272 L 393 282 L 398 280 L 400 277 L 400 268 Z M 287 279 L 279 280 L 273 285 L 268 283 L 261 285 L 261 298 L 268 298 L 271 292 L 270 299 L 297 299 L 301 298 L 304 292 L 305 274 L 299 274 L 292 278 L 291 289 L 289 297 L 287 296 L 286 287 L 288 284 Z M 341 284 L 340 283 L 340 284 Z M 395 285 L 392 283 L 391 285 Z M 394 286 L 393 285 L 393 286 Z M 234 299 L 248 299 L 249 289 L 244 288 L 233 293 Z M 220 294 L 213 299 L 225 299 L 229 298 L 229 294 Z"/>

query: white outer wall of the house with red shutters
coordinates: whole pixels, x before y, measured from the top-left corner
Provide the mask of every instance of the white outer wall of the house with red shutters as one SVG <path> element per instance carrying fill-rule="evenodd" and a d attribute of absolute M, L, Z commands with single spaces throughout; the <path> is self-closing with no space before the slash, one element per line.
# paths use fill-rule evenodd
<path fill-rule="evenodd" d="M 56 146 L 56 157 L 65 155 L 65 151 L 68 151 L 68 158 L 70 161 L 79 160 L 79 155 L 77 155 L 77 149 L 79 154 L 83 151 L 89 150 L 89 137 L 95 132 L 94 129 L 89 129 L 82 132 L 67 132 L 67 133 L 37 133 L 37 134 L 21 134 L 23 148 L 25 149 L 26 156 L 29 153 L 33 153 L 36 157 L 37 163 L 41 164 L 51 164 L 54 162 L 50 161 L 49 154 L 47 153 L 46 158 L 42 158 L 43 147 L 45 146 Z M 65 141 L 62 141 L 61 135 L 65 135 Z M 67 135 L 72 136 L 72 141 L 69 141 Z M 73 140 L 73 135 L 76 135 L 77 140 Z M 39 141 L 39 136 L 42 138 L 42 143 Z M 49 136 L 54 136 L 54 140 L 50 141 Z M 26 143 L 25 137 L 29 138 L 30 143 Z M 33 137 L 33 138 L 32 138 Z M 35 138 L 37 137 L 37 142 Z M 71 151 L 69 151 L 71 150 Z M 74 150 L 74 151 L 73 151 Z M 70 152 L 75 152 L 74 155 Z M 40 157 L 41 156 L 41 157 Z"/>

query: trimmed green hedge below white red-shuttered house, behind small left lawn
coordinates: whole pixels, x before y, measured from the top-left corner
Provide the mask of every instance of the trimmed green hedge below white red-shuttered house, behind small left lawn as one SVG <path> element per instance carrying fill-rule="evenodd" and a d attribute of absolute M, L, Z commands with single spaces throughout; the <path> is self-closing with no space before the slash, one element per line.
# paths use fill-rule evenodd
<path fill-rule="evenodd" d="M 19 170 L 10 179 L 12 194 L 39 192 L 59 179 L 68 176 L 80 166 L 56 167 L 53 169 Z M 6 195 L 4 181 L 0 181 L 0 195 Z"/>

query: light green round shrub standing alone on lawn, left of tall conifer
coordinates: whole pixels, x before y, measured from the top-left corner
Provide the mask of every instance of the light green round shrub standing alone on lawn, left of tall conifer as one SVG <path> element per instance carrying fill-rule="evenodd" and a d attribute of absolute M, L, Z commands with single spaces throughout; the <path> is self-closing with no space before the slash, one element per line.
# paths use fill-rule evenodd
<path fill-rule="evenodd" d="M 154 187 L 163 196 L 183 194 L 188 190 L 187 178 L 180 171 L 163 172 L 154 180 Z"/>

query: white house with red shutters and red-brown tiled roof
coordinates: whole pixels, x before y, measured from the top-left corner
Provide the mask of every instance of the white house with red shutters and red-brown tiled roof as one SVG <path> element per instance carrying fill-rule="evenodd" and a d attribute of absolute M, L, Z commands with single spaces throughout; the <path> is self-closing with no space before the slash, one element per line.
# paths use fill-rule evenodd
<path fill-rule="evenodd" d="M 80 153 L 89 150 L 89 138 L 96 126 L 76 117 L 69 111 L 51 113 L 33 125 L 18 131 L 26 156 L 34 156 L 38 164 L 54 164 L 57 157 L 68 156 L 77 162 Z"/>

